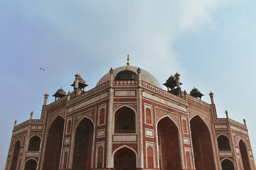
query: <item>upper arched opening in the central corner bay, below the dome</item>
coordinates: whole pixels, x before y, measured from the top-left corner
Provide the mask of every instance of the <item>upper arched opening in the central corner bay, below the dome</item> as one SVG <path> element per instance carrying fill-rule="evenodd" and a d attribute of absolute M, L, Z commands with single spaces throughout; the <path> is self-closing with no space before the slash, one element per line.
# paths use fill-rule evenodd
<path fill-rule="evenodd" d="M 135 113 L 132 108 L 124 106 L 119 108 L 114 115 L 114 132 L 115 133 L 134 133 L 135 130 Z"/>

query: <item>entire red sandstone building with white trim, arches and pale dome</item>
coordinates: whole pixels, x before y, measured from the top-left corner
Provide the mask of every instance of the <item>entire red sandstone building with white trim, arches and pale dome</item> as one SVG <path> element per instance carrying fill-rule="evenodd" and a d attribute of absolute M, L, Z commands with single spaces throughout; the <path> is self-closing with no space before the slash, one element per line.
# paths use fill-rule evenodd
<path fill-rule="evenodd" d="M 118 80 L 125 70 L 136 79 Z M 172 94 L 132 66 L 89 91 L 75 76 L 72 93 L 45 95 L 41 119 L 14 125 L 6 170 L 256 169 L 246 125 L 217 118 L 212 93 Z"/>

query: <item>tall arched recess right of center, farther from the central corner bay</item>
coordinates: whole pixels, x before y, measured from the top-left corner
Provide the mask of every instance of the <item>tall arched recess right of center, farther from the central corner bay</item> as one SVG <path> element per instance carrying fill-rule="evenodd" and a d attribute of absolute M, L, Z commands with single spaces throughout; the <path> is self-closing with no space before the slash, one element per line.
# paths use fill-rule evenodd
<path fill-rule="evenodd" d="M 196 115 L 190 124 L 196 169 L 215 169 L 210 132 L 206 123 Z"/>

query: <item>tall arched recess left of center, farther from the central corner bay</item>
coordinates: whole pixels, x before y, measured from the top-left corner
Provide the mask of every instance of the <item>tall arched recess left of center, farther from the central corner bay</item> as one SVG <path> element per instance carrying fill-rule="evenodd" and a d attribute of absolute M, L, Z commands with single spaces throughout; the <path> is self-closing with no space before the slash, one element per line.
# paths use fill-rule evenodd
<path fill-rule="evenodd" d="M 43 170 L 55 170 L 59 168 L 63 129 L 64 119 L 58 115 L 48 130 Z"/>

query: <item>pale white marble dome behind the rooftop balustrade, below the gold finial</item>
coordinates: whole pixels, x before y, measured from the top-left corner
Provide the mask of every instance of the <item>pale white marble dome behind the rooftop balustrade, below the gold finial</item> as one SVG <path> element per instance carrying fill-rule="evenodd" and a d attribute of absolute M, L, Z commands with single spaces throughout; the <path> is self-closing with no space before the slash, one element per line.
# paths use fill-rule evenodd
<path fill-rule="evenodd" d="M 114 74 L 113 76 L 116 77 L 117 73 L 123 71 L 123 70 L 131 70 L 132 72 L 135 72 L 137 74 L 137 69 L 138 67 L 134 67 L 134 66 L 122 66 L 122 67 L 118 67 L 116 69 L 114 69 Z M 159 83 L 159 81 L 157 81 L 156 78 L 154 78 L 154 76 L 152 76 L 152 74 L 150 74 L 149 72 L 146 72 L 146 70 L 142 69 L 141 72 L 141 78 L 142 81 L 146 81 L 149 84 L 152 84 L 153 86 L 157 86 L 158 88 L 161 89 L 161 84 Z M 105 83 L 106 81 L 110 80 L 110 73 L 105 74 L 100 81 L 97 82 L 96 86 L 99 86 L 100 84 Z"/>

